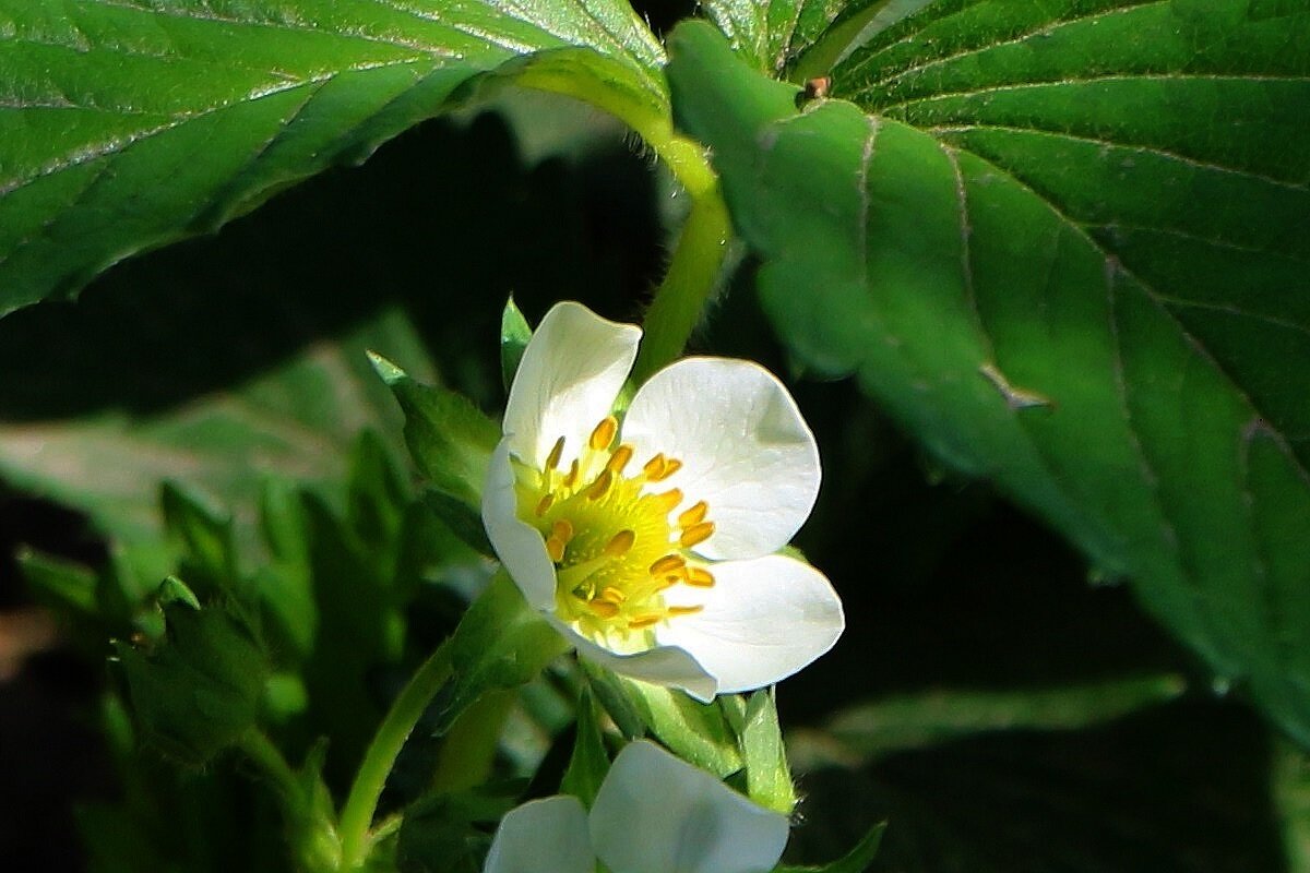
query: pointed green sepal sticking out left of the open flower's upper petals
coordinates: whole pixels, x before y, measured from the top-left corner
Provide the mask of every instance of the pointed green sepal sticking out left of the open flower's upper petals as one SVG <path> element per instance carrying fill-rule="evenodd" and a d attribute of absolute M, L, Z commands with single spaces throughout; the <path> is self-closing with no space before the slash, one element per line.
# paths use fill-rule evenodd
<path fill-rule="evenodd" d="M 464 395 L 415 382 L 381 355 L 369 352 L 368 360 L 405 412 L 405 444 L 419 472 L 436 491 L 481 507 L 487 462 L 500 440 L 496 423 Z"/>

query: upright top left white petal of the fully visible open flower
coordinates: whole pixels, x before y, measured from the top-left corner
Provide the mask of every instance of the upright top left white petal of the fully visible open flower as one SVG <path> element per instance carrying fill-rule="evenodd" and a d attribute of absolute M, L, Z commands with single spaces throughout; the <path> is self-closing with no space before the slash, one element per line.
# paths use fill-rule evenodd
<path fill-rule="evenodd" d="M 642 331 L 582 304 L 555 304 L 528 340 L 504 408 L 504 433 L 520 461 L 540 467 L 555 440 L 574 458 L 614 404 Z"/>

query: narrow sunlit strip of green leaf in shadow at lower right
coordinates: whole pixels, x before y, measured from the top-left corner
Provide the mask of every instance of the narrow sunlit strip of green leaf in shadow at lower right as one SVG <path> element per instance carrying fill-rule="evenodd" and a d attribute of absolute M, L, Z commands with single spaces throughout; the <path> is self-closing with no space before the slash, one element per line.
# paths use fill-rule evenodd
<path fill-rule="evenodd" d="M 1073 730 L 1176 700 L 1178 675 L 1107 679 L 1015 691 L 937 690 L 841 709 L 817 730 L 789 736 L 798 768 L 853 766 L 909 749 L 1000 730 Z"/>

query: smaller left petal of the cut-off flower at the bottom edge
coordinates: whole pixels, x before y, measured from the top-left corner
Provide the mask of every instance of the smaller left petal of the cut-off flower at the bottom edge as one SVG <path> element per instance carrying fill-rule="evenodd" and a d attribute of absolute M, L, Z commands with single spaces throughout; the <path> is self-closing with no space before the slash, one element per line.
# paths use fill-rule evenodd
<path fill-rule="evenodd" d="M 595 873 L 587 811 L 559 794 L 510 810 L 491 840 L 483 873 Z"/>

